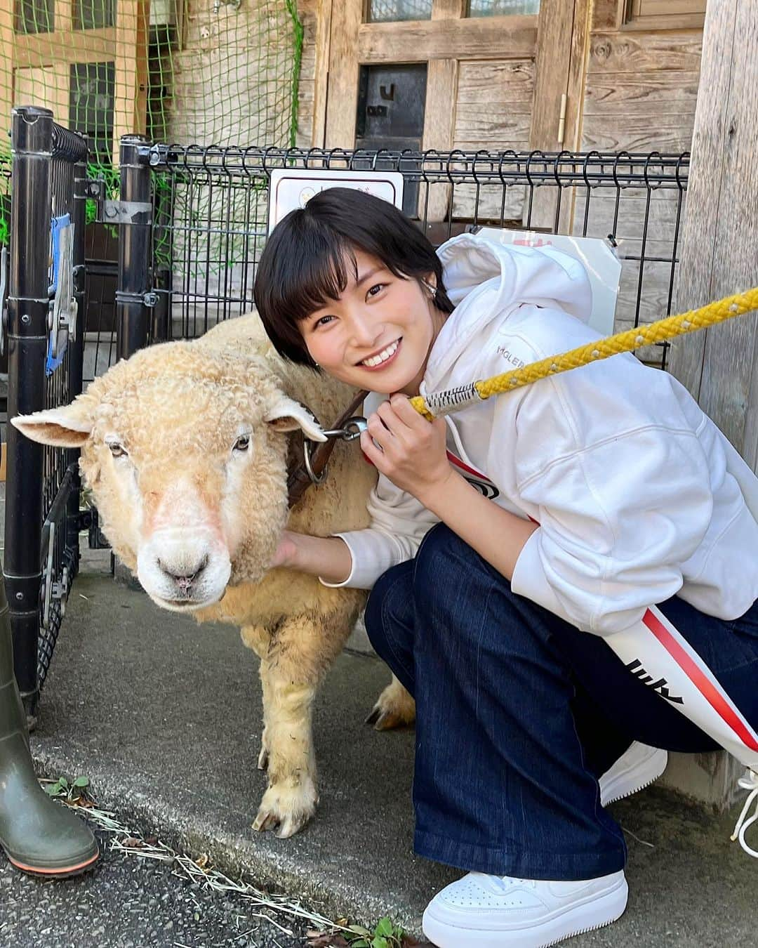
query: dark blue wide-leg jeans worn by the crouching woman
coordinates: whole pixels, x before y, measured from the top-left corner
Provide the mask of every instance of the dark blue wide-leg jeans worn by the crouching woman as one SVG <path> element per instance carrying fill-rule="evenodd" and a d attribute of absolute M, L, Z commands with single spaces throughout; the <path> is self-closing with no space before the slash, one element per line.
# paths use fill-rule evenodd
<path fill-rule="evenodd" d="M 659 605 L 758 726 L 758 603 L 724 622 Z M 511 592 L 447 527 L 370 594 L 371 644 L 416 699 L 414 847 L 463 869 L 590 879 L 623 868 L 598 776 L 632 740 L 716 744 L 597 635 Z"/>

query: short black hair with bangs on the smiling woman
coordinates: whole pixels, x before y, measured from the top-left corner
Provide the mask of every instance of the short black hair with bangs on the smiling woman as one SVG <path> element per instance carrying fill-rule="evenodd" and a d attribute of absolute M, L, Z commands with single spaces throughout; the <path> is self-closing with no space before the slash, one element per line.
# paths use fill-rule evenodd
<path fill-rule="evenodd" d="M 338 299 L 348 284 L 350 261 L 356 267 L 355 250 L 378 258 L 397 277 L 421 279 L 433 273 L 435 305 L 444 313 L 453 311 L 440 258 L 402 211 L 365 191 L 327 188 L 282 218 L 258 264 L 255 304 L 280 356 L 316 367 L 299 324 Z"/>

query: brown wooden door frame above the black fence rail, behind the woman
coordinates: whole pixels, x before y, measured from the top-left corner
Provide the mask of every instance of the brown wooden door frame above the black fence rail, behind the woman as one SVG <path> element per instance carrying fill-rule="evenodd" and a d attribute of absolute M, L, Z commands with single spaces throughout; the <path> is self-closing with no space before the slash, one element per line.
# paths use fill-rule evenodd
<path fill-rule="evenodd" d="M 591 6 L 591 0 L 542 0 L 539 16 L 468 18 L 464 0 L 432 0 L 431 20 L 369 24 L 363 22 L 366 0 L 319 0 L 313 144 L 347 148 L 354 142 L 360 65 L 425 62 L 422 147 L 449 150 L 460 61 L 501 59 L 507 47 L 509 57 L 535 56 L 530 148 L 575 150 L 581 141 Z M 330 111 L 329 100 L 339 101 L 339 109 Z"/>

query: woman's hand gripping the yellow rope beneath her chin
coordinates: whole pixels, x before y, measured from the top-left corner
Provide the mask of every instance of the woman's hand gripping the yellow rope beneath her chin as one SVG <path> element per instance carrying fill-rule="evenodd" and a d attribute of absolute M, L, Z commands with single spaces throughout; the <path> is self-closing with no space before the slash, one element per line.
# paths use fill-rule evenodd
<path fill-rule="evenodd" d="M 454 473 L 447 460 L 444 418 L 430 424 L 406 395 L 395 394 L 368 421 L 361 434 L 364 454 L 392 483 L 428 506 Z"/>

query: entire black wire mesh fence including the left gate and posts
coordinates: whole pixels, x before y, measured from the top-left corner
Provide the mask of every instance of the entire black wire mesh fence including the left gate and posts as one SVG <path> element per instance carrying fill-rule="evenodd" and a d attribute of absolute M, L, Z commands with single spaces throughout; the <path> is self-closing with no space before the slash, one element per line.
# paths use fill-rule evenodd
<path fill-rule="evenodd" d="M 46 110 L 15 110 L 13 134 L 10 416 L 69 402 L 81 391 L 82 360 L 83 377 L 92 378 L 151 342 L 198 337 L 252 311 L 277 168 L 400 172 L 404 206 L 435 245 L 478 226 L 536 231 L 530 239 L 545 234 L 546 242 L 552 233 L 607 238 L 623 264 L 616 329 L 659 319 L 676 299 L 687 154 L 324 152 L 177 147 L 127 136 L 116 194 L 86 179 L 85 141 L 56 126 Z M 0 200 L 8 199 L 3 167 L 0 155 Z M 92 246 L 84 272 L 85 203 L 93 198 L 106 225 L 100 235 L 111 242 L 100 248 L 103 257 L 117 246 L 116 273 Z M 50 230 L 51 207 L 54 224 L 66 215 L 74 222 L 73 323 L 56 308 L 62 294 L 53 284 L 65 270 L 59 266 L 52 279 L 50 248 L 39 240 Z M 661 343 L 638 355 L 665 367 L 667 350 Z M 32 714 L 87 520 L 75 462 L 76 452 L 33 445 L 9 429 L 5 576 L 20 643 L 16 673 Z M 92 545 L 100 545 L 96 511 L 91 527 Z"/>

